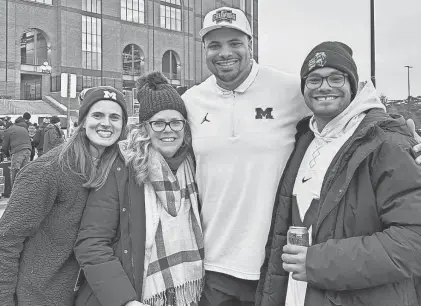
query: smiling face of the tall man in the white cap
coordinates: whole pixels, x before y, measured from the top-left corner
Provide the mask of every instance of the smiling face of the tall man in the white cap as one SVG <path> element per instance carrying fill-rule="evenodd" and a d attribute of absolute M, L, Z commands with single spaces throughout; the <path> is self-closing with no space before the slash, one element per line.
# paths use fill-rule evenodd
<path fill-rule="evenodd" d="M 237 88 L 251 70 L 251 40 L 241 31 L 220 28 L 205 35 L 206 65 L 218 85 L 228 90 Z"/>

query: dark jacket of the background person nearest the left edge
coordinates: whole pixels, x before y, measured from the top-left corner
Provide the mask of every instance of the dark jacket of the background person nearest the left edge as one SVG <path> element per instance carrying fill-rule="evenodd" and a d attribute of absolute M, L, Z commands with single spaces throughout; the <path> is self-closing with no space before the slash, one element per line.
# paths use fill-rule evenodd
<path fill-rule="evenodd" d="M 32 149 L 26 127 L 26 122 L 21 121 L 4 131 L 2 150 L 7 157 L 22 150 Z"/>

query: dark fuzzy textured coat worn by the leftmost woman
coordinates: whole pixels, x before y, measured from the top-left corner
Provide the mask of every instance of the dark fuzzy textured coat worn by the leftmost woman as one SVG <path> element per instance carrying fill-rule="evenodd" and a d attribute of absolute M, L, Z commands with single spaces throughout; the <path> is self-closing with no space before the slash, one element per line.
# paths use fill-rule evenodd
<path fill-rule="evenodd" d="M 88 190 L 62 171 L 60 149 L 22 168 L 0 219 L 2 306 L 74 304 L 79 265 L 73 246 Z"/>

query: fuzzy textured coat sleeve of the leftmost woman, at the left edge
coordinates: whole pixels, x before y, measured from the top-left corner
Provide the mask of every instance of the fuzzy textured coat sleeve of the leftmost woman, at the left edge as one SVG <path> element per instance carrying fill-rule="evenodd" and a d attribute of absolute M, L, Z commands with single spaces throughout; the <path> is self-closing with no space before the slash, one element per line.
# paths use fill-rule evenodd
<path fill-rule="evenodd" d="M 19 259 L 24 241 L 33 235 L 49 213 L 59 193 L 59 169 L 34 161 L 22 168 L 0 219 L 0 301 L 15 305 Z M 43 175 L 48 172 L 49 175 Z"/>

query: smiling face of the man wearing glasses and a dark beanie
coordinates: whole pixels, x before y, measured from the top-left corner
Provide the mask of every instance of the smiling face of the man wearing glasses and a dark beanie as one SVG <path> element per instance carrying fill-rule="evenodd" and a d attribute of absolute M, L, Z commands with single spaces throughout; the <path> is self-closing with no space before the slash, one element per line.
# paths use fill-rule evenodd
<path fill-rule="evenodd" d="M 344 74 L 343 72 L 330 67 L 320 68 L 312 71 L 308 76 L 327 77 L 332 74 Z M 348 77 L 341 88 L 332 88 L 323 80 L 322 86 L 317 89 L 308 89 L 304 86 L 304 99 L 307 106 L 314 113 L 317 127 L 322 130 L 333 118 L 339 115 L 351 103 L 351 85 Z"/>

